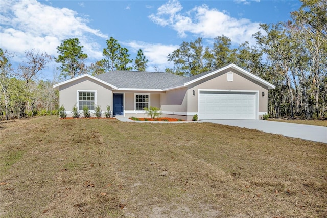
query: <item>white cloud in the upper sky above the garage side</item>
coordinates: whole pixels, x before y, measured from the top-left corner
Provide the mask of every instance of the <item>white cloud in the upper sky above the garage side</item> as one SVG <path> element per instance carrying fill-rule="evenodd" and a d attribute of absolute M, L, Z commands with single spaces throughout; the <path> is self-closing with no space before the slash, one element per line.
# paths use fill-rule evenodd
<path fill-rule="evenodd" d="M 233 43 L 244 41 L 254 43 L 252 34 L 259 30 L 259 23 L 231 17 L 226 11 L 211 9 L 205 4 L 182 13 L 182 6 L 177 0 L 171 0 L 160 6 L 157 13 L 151 14 L 149 18 L 160 26 L 171 27 L 181 38 L 186 37 L 188 33 L 203 38 L 225 35 Z"/>

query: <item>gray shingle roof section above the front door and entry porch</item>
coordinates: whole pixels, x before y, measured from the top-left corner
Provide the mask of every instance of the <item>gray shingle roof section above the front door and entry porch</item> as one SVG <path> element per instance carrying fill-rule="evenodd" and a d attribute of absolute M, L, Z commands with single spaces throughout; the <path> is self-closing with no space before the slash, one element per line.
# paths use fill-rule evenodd
<path fill-rule="evenodd" d="M 118 88 L 126 89 L 164 89 L 186 78 L 172 73 L 139 71 L 111 71 L 95 77 Z"/>

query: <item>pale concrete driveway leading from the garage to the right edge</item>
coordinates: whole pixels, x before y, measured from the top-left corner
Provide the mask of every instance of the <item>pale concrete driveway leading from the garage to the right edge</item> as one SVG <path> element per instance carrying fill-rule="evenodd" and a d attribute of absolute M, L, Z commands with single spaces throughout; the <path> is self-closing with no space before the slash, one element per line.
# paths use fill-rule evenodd
<path fill-rule="evenodd" d="M 327 143 L 327 127 L 267 120 L 202 120 L 242 128 L 258 129 L 266 133 L 280 134 L 315 142 Z"/>

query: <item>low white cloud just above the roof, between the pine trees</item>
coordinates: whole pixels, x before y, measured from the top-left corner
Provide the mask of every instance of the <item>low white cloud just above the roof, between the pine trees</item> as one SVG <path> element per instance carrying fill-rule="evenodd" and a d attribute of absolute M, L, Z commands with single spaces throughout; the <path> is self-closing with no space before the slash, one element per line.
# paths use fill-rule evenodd
<path fill-rule="evenodd" d="M 148 71 L 154 71 L 154 67 L 157 67 L 160 71 L 173 67 L 172 63 L 167 62 L 167 56 L 179 48 L 178 45 L 162 45 L 142 41 L 122 42 L 122 45 L 127 46 L 135 53 L 137 50 L 142 49 L 144 55 L 149 60 Z"/>

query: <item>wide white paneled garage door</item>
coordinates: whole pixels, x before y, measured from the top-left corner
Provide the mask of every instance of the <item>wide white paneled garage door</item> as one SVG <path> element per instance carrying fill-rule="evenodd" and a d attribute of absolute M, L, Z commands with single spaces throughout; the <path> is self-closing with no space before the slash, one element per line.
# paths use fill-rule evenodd
<path fill-rule="evenodd" d="M 256 93 L 200 91 L 199 119 L 255 119 Z"/>

